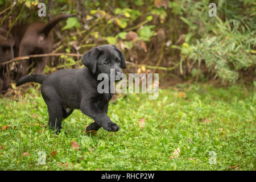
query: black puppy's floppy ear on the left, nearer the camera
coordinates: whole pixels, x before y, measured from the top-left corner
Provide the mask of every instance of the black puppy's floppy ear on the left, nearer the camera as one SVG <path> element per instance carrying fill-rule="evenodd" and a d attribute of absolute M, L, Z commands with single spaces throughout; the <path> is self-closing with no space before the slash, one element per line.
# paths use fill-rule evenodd
<path fill-rule="evenodd" d="M 97 67 L 97 59 L 100 51 L 98 48 L 94 47 L 90 49 L 89 51 L 85 52 L 84 55 L 82 55 L 82 63 L 92 71 L 93 74 L 96 73 L 96 67 Z"/>

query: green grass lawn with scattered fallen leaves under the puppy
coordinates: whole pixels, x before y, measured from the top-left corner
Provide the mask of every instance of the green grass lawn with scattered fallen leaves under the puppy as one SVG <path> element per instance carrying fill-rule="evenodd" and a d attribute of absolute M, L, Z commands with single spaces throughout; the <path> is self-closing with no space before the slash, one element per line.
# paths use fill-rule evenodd
<path fill-rule="evenodd" d="M 253 88 L 183 84 L 159 90 L 157 100 L 127 94 L 111 101 L 108 115 L 120 126 L 117 133 L 85 134 L 93 120 L 76 110 L 55 135 L 44 127 L 48 112 L 40 92 L 30 88 L 18 99 L 0 98 L 0 126 L 11 126 L 0 132 L 0 169 L 255 170 L 255 103 Z M 46 152 L 45 165 L 38 165 L 39 151 Z M 209 163 L 210 151 L 216 164 Z"/>

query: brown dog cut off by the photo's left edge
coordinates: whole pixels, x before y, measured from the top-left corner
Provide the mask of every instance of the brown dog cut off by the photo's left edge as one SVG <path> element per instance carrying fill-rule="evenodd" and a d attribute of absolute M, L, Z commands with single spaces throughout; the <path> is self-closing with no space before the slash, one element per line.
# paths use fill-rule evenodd
<path fill-rule="evenodd" d="M 0 28 L 0 63 L 5 63 L 14 58 L 14 38 L 9 34 L 6 38 L 7 31 Z M 0 65 L 0 93 L 6 90 L 10 85 L 10 69 L 9 65 Z"/>

